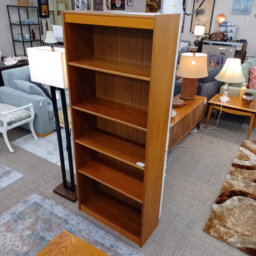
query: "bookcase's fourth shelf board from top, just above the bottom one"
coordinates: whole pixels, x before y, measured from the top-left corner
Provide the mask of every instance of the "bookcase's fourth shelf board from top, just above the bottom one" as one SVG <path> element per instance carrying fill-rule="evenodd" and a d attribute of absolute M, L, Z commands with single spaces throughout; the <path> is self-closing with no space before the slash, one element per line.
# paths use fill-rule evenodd
<path fill-rule="evenodd" d="M 128 197 L 143 202 L 143 175 L 102 157 L 90 160 L 78 172 L 105 184 Z"/>

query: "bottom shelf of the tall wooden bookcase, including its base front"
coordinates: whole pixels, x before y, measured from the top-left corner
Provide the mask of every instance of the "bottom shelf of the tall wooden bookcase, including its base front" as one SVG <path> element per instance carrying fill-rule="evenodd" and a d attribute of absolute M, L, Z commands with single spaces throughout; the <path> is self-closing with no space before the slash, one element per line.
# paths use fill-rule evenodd
<path fill-rule="evenodd" d="M 141 212 L 105 192 L 93 192 L 81 204 L 81 210 L 140 244 Z"/>

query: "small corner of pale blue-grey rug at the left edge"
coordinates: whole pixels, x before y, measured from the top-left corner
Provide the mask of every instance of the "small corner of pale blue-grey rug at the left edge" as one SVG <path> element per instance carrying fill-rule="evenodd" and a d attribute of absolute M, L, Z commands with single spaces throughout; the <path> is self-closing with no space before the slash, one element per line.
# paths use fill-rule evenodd
<path fill-rule="evenodd" d="M 22 178 L 23 175 L 0 164 L 0 190 Z"/>

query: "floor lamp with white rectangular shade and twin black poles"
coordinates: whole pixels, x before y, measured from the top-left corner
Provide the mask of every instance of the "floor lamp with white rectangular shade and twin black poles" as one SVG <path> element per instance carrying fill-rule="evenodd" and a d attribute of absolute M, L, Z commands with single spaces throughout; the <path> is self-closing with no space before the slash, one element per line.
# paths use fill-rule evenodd
<path fill-rule="evenodd" d="M 63 182 L 60 185 L 53 189 L 53 192 L 66 198 L 67 200 L 75 202 L 77 200 L 77 195 L 73 171 L 69 123 L 67 116 L 67 103 L 65 96 L 65 88 L 67 88 L 67 67 L 65 49 L 55 47 L 55 50 L 52 50 L 51 47 L 47 46 L 32 47 L 27 48 L 27 53 L 29 58 L 31 81 L 35 81 L 42 84 L 49 84 L 51 87 L 52 107 L 55 117 L 55 125 L 58 138 L 58 147 L 61 160 L 61 172 L 63 180 Z M 61 138 L 61 128 L 58 117 L 57 99 L 59 97 L 59 93 L 55 90 L 56 88 L 60 91 L 61 94 L 61 104 L 67 140 L 68 163 L 70 168 L 70 182 L 67 181 L 66 177 L 63 144 Z"/>

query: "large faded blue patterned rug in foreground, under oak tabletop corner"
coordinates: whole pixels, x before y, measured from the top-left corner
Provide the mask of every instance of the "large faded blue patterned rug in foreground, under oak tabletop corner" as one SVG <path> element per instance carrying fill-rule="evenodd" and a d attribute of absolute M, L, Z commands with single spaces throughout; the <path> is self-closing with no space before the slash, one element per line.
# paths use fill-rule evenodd
<path fill-rule="evenodd" d="M 0 256 L 35 256 L 63 229 L 109 255 L 143 255 L 55 201 L 34 193 L 0 216 Z"/>

